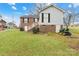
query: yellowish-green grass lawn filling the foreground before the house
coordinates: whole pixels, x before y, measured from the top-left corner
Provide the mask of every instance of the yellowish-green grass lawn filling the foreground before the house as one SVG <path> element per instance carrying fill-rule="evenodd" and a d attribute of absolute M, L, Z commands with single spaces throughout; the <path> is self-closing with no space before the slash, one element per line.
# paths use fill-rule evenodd
<path fill-rule="evenodd" d="M 0 55 L 79 55 L 78 50 L 69 47 L 69 42 L 71 42 L 70 38 L 55 33 L 51 35 L 32 34 L 30 32 L 20 32 L 18 29 L 10 29 L 0 32 Z"/>

